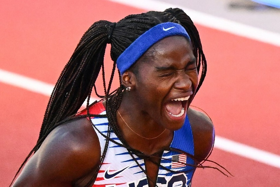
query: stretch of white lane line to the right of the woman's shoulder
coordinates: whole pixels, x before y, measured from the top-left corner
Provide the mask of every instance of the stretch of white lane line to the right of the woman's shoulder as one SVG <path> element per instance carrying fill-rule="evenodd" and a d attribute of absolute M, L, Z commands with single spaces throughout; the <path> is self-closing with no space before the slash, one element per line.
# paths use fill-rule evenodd
<path fill-rule="evenodd" d="M 216 136 L 214 147 L 267 165 L 280 168 L 280 156 L 242 143 Z"/>

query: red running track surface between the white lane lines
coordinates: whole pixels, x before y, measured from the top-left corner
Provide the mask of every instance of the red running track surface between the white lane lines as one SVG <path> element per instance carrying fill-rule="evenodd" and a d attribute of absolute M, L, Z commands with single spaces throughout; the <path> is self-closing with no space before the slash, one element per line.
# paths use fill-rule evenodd
<path fill-rule="evenodd" d="M 54 84 L 93 22 L 118 21 L 144 11 L 109 1 L 4 0 L 0 6 L 0 69 Z M 280 48 L 197 27 L 208 72 L 193 104 L 211 116 L 218 136 L 280 155 Z M 108 55 L 105 61 L 110 73 Z M 101 92 L 101 82 L 100 87 Z M 7 186 L 37 140 L 48 98 L 4 83 L 0 83 L 0 90 L 0 186 Z M 279 168 L 218 149 L 210 159 L 235 177 L 198 169 L 194 187 L 280 183 Z"/>

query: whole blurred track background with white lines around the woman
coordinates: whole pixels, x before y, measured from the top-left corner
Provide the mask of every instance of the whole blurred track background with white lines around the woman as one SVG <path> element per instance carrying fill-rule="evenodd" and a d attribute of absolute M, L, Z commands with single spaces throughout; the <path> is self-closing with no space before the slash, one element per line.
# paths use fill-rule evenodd
<path fill-rule="evenodd" d="M 276 0 L 2 0 L 0 186 L 9 185 L 35 145 L 52 88 L 90 25 L 169 7 L 185 10 L 200 33 L 208 71 L 192 105 L 206 111 L 215 126 L 209 159 L 235 175 L 228 178 L 217 170 L 198 168 L 192 186 L 279 186 L 280 9 Z M 108 53 L 105 63 L 109 79 Z M 102 94 L 102 82 L 97 85 Z"/>

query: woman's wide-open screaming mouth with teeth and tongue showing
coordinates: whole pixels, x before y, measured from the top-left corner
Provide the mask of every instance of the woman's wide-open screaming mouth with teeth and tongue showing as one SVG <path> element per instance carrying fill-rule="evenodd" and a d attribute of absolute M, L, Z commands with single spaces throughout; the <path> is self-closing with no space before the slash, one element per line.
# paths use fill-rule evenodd
<path fill-rule="evenodd" d="M 183 116 L 189 98 L 190 96 L 172 99 L 165 105 L 166 111 L 173 117 Z"/>

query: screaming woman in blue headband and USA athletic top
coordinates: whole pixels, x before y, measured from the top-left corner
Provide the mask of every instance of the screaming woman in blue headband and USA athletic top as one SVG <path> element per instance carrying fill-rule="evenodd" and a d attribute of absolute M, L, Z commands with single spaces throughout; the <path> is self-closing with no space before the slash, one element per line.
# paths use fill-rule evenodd
<path fill-rule="evenodd" d="M 116 65 L 120 87 L 110 92 Z M 89 106 L 100 69 L 105 96 Z M 211 120 L 189 108 L 205 75 L 198 31 L 181 9 L 95 22 L 59 76 L 14 186 L 190 186 L 214 141 Z"/>

